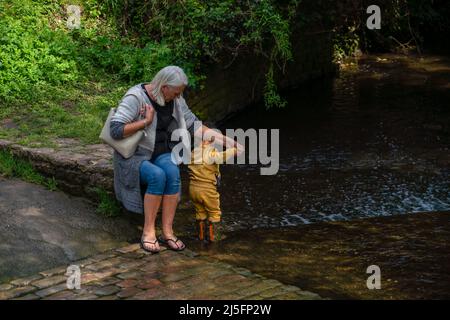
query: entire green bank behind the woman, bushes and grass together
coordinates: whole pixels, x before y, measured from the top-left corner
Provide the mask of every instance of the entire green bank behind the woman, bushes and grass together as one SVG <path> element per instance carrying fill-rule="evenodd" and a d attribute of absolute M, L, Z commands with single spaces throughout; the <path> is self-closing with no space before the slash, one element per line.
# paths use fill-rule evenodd
<path fill-rule="evenodd" d="M 185 69 L 194 88 L 202 88 L 206 64 L 229 65 L 241 53 L 261 54 L 282 70 L 299 1 L 287 2 L 286 11 L 271 0 L 0 1 L 1 116 L 20 124 L 0 127 L 0 136 L 96 142 L 119 89 L 170 64 Z M 69 4 L 82 9 L 79 29 L 66 26 Z M 268 106 L 279 101 L 274 72 L 266 75 Z"/>

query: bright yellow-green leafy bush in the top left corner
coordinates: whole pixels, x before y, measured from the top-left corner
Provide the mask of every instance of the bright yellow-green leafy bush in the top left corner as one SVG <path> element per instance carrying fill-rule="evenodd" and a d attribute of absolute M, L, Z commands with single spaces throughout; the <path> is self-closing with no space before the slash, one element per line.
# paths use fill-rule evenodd
<path fill-rule="evenodd" d="M 30 0 L 0 3 L 0 99 L 17 96 L 39 83 L 62 84 L 78 78 L 75 46 L 49 26 L 53 5 Z"/>

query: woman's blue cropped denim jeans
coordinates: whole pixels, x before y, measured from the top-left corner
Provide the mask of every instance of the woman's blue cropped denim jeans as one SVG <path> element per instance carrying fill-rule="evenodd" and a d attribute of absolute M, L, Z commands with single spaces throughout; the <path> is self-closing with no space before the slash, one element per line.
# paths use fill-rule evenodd
<path fill-rule="evenodd" d="M 176 194 L 181 189 L 180 169 L 172 162 L 170 152 L 159 155 L 153 163 L 143 161 L 139 179 L 141 186 L 147 186 L 145 193 L 149 194 Z"/>

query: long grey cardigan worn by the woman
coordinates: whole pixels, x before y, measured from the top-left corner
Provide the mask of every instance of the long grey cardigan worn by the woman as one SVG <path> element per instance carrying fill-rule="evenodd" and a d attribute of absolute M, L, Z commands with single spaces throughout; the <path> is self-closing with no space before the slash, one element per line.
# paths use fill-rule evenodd
<path fill-rule="evenodd" d="M 151 102 L 141 87 L 141 83 L 130 88 L 123 96 L 115 115 L 111 119 L 112 122 L 130 123 L 139 120 L 140 108 L 146 103 Z M 183 97 L 174 100 L 174 108 L 172 116 L 175 118 L 177 127 L 174 129 L 190 129 L 193 131 L 193 125 L 198 118 L 189 109 Z M 139 142 L 138 148 L 133 156 L 128 159 L 122 157 L 117 151 L 114 151 L 114 192 L 117 200 L 122 202 L 123 206 L 132 212 L 143 213 L 143 195 L 139 179 L 139 168 L 142 161 L 150 160 L 155 146 L 157 126 L 157 115 L 153 117 L 152 123 L 145 129 L 146 135 Z M 111 130 L 111 136 L 113 135 Z"/>

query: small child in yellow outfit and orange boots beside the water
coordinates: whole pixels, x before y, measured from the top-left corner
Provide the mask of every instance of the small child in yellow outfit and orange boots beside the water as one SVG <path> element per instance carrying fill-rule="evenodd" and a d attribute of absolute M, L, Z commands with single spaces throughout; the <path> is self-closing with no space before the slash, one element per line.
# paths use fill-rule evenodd
<path fill-rule="evenodd" d="M 212 142 L 204 140 L 192 153 L 189 169 L 189 195 L 195 207 L 199 240 L 211 242 L 223 239 L 220 225 L 219 164 L 237 154 L 236 147 L 219 152 Z"/>

